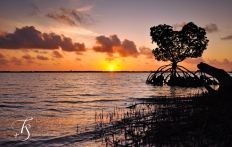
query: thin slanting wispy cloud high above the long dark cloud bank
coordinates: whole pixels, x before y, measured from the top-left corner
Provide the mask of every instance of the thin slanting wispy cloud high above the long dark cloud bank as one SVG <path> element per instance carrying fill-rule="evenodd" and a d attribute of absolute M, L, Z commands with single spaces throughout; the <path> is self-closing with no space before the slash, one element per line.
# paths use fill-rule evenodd
<path fill-rule="evenodd" d="M 74 20 L 72 20 L 71 18 L 69 18 L 68 16 L 63 15 L 63 14 L 59 15 L 59 14 L 47 13 L 47 14 L 45 14 L 45 16 L 48 17 L 48 18 L 52 18 L 52 19 L 58 20 L 58 21 L 66 22 L 66 23 L 68 23 L 71 26 L 75 26 L 76 25 L 76 23 L 75 23 Z"/>

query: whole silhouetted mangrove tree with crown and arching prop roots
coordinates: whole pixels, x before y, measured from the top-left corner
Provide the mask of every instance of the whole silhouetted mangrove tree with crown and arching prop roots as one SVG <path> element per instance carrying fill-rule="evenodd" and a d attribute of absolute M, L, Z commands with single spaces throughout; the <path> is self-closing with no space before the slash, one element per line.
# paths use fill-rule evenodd
<path fill-rule="evenodd" d="M 156 73 L 150 74 L 147 83 L 162 85 L 163 80 L 166 82 L 167 77 L 170 76 L 169 83 L 167 82 L 167 84 L 171 86 L 178 86 L 181 79 L 176 77 L 181 76 L 179 76 L 177 70 L 183 72 L 185 79 L 192 76 L 190 75 L 191 72 L 189 70 L 177 65 L 177 63 L 183 61 L 186 58 L 201 57 L 203 51 L 208 45 L 209 40 L 206 37 L 205 30 L 196 26 L 192 22 L 189 22 L 183 26 L 181 31 L 174 31 L 172 28 L 172 26 L 164 24 L 154 26 L 150 29 L 152 43 L 156 42 L 158 46 L 152 50 L 155 59 L 158 61 L 171 61 L 172 63 L 169 65 L 161 66 Z M 171 67 L 166 69 L 168 66 Z M 166 71 L 170 71 L 170 75 L 164 79 L 163 72 Z M 157 73 L 159 72 L 161 72 L 161 76 L 156 77 Z M 193 77 L 195 77 L 193 73 L 191 74 Z M 184 82 L 186 83 L 186 80 Z M 191 84 L 189 83 L 185 86 L 191 86 Z"/>

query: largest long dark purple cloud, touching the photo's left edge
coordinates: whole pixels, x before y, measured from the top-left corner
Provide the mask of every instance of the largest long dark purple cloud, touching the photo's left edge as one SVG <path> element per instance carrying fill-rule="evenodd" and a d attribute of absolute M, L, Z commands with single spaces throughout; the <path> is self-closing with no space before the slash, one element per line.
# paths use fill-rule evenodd
<path fill-rule="evenodd" d="M 84 43 L 74 43 L 71 38 L 55 33 L 41 33 L 34 26 L 16 28 L 14 33 L 0 35 L 0 48 L 3 49 L 59 49 L 83 52 Z"/>

